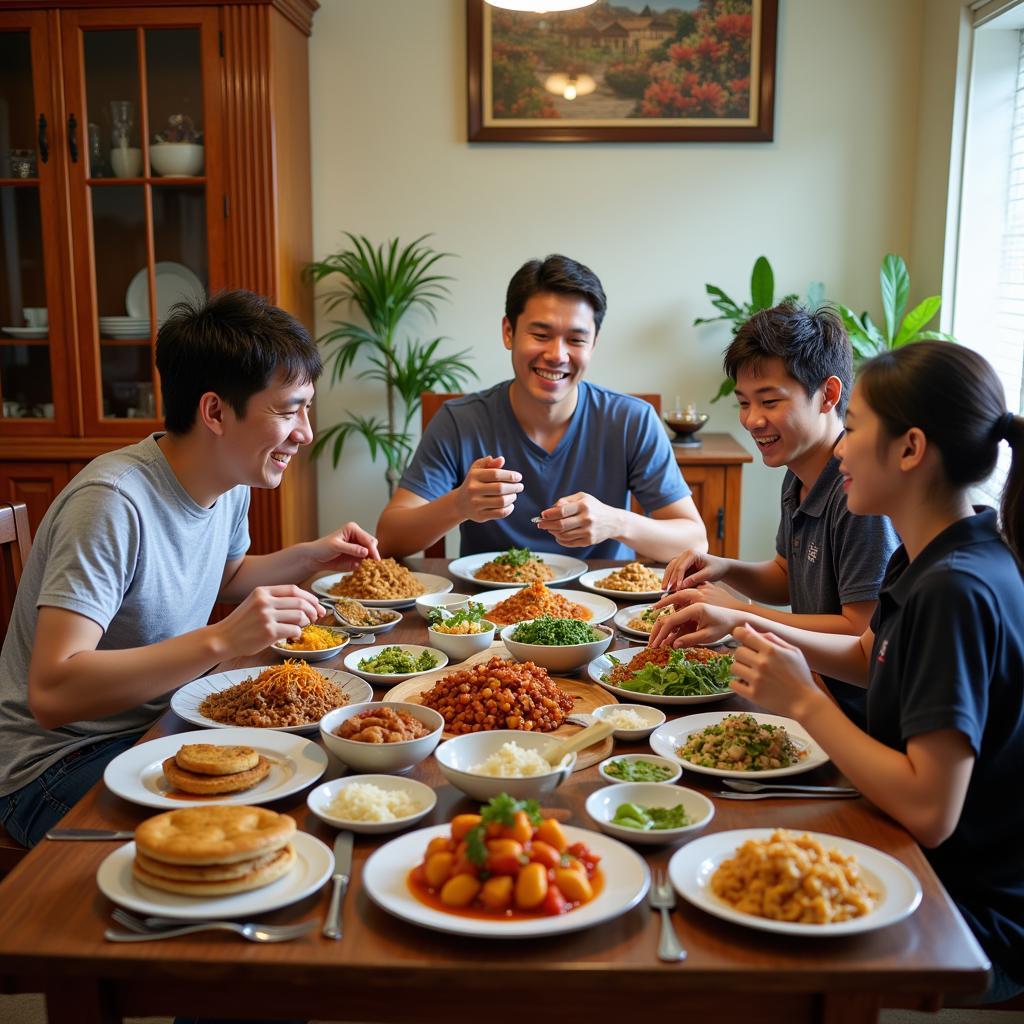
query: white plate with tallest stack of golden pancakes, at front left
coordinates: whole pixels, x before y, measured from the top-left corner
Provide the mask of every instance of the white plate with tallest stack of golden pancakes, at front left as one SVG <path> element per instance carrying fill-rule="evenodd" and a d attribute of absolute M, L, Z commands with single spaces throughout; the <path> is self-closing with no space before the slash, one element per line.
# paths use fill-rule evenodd
<path fill-rule="evenodd" d="M 110 900 L 139 913 L 182 921 L 241 918 L 288 906 L 316 892 L 334 855 L 265 807 L 179 807 L 147 818 L 135 841 L 99 865 Z"/>

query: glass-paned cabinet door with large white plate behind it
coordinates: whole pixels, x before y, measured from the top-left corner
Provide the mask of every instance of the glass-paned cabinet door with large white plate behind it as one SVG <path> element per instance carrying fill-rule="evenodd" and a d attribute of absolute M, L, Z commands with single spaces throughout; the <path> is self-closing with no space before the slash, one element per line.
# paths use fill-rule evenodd
<path fill-rule="evenodd" d="M 163 416 L 161 324 L 223 285 L 208 228 L 223 216 L 222 151 L 207 133 L 220 58 L 215 11 L 115 13 L 62 15 L 80 140 L 69 180 L 85 430 L 137 436 Z"/>

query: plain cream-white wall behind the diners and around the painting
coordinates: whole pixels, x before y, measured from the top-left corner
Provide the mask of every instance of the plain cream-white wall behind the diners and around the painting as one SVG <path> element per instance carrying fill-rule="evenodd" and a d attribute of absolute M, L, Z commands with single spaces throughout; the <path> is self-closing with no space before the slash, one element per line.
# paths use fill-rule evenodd
<path fill-rule="evenodd" d="M 712 413 L 706 429 L 739 437 L 734 408 L 707 400 L 728 332 L 691 327 L 712 311 L 705 283 L 743 296 L 765 254 L 780 291 L 820 280 L 877 315 L 882 256 L 909 256 L 914 216 L 933 213 L 914 207 L 921 0 L 779 6 L 774 142 L 470 145 L 462 0 L 322 0 L 311 40 L 315 253 L 346 229 L 381 241 L 434 232 L 436 248 L 460 257 L 438 333 L 471 346 L 490 384 L 509 375 L 499 332 L 509 276 L 529 257 L 564 252 L 608 294 L 591 379 L 696 400 Z M 941 258 L 914 273 L 915 294 L 937 290 L 940 267 Z M 323 426 L 382 404 L 377 385 L 353 378 L 321 386 L 317 416 Z M 781 476 L 759 463 L 744 469 L 744 557 L 774 550 Z M 322 461 L 319 496 L 323 529 L 350 517 L 373 527 L 383 468 L 353 441 L 342 472 Z"/>

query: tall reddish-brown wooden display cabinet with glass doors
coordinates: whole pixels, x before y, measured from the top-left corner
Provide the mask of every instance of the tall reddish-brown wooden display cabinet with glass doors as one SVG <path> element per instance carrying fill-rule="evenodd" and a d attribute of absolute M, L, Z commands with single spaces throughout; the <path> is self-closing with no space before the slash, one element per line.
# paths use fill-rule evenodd
<path fill-rule="evenodd" d="M 0 499 L 25 501 L 34 531 L 90 459 L 162 428 L 173 302 L 248 288 L 312 327 L 316 7 L 0 7 Z M 253 492 L 253 552 L 314 537 L 315 509 L 295 459 Z"/>

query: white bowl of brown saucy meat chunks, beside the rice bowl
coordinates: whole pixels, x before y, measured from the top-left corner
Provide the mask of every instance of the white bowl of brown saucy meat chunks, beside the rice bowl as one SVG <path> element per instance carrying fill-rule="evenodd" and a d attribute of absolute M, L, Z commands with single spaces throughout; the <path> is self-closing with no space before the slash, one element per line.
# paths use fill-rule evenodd
<path fill-rule="evenodd" d="M 371 701 L 329 712 L 321 719 L 321 738 L 356 771 L 402 772 L 430 756 L 443 728 L 444 719 L 432 708 Z"/>

